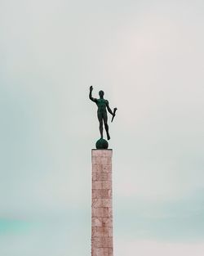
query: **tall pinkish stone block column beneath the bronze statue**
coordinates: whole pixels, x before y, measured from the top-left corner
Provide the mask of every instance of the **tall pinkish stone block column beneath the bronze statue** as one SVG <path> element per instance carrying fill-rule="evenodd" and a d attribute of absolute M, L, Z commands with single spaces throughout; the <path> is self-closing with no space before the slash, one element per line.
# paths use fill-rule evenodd
<path fill-rule="evenodd" d="M 112 150 L 92 150 L 91 256 L 113 256 Z"/>

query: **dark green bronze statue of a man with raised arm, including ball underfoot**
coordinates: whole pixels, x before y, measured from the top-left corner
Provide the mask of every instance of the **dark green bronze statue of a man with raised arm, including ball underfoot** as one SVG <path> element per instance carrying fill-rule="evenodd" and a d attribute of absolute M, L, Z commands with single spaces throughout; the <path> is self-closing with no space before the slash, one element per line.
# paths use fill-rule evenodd
<path fill-rule="evenodd" d="M 112 117 L 112 122 L 113 122 L 117 108 L 114 108 L 113 111 L 110 109 L 109 101 L 104 99 L 103 91 L 99 92 L 99 95 L 100 95 L 99 99 L 95 99 L 92 97 L 92 91 L 93 91 L 93 87 L 91 86 L 89 98 L 91 101 L 94 101 L 96 103 L 96 105 L 98 106 L 97 115 L 98 115 L 98 119 L 99 119 L 99 123 L 100 123 L 100 140 L 96 142 L 96 148 L 104 149 L 104 148 L 108 148 L 108 146 L 109 146 L 108 141 L 110 139 L 107 110 L 109 111 L 109 113 L 111 115 L 113 115 L 113 117 Z M 108 141 L 105 141 L 104 137 L 103 137 L 103 122 L 104 122 L 104 128 L 106 131 Z"/>

